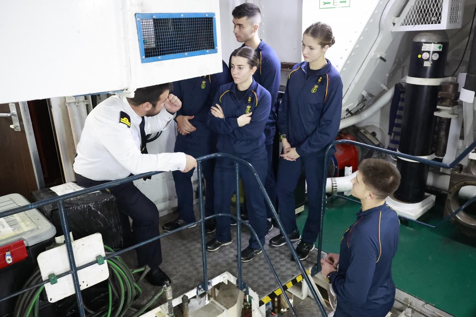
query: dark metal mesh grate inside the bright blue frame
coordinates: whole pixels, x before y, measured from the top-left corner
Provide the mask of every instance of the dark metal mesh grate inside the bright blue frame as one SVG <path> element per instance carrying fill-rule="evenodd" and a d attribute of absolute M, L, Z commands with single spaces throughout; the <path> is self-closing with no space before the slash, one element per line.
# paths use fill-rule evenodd
<path fill-rule="evenodd" d="M 215 49 L 213 18 L 141 19 L 144 57 Z"/>

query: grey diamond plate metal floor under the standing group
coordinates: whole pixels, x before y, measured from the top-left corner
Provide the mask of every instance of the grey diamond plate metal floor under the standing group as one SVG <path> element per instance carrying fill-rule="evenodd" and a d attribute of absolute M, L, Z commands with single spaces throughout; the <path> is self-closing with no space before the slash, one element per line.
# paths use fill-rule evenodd
<path fill-rule="evenodd" d="M 176 213 L 161 217 L 160 226 L 176 217 Z M 160 233 L 163 233 L 162 228 L 160 228 Z M 265 249 L 281 282 L 286 283 L 300 274 L 300 271 L 296 263 L 290 260 L 291 252 L 287 246 L 272 248 L 268 245 L 269 239 L 278 233 L 279 230 L 277 228 L 273 228 L 268 233 Z M 232 236 L 233 243 L 231 245 L 222 247 L 215 252 L 207 252 L 208 279 L 216 277 L 226 271 L 235 277 L 238 276 L 236 226 L 232 226 Z M 248 228 L 243 226 L 241 237 L 242 249 L 248 246 L 249 237 L 250 233 Z M 211 238 L 214 238 L 214 234 L 207 235 L 207 240 Z M 199 226 L 171 234 L 162 238 L 161 242 L 163 263 L 160 267 L 172 279 L 174 297 L 201 284 L 203 282 L 203 270 Z M 135 251 L 127 253 L 123 258 L 130 267 L 137 267 Z M 317 251 L 313 250 L 309 257 L 303 261 L 304 267 L 309 269 L 316 263 L 316 259 Z M 243 281 L 247 283 L 248 287 L 258 293 L 259 298 L 265 297 L 279 287 L 263 254 L 258 255 L 250 262 L 243 263 L 242 270 Z M 146 281 L 143 281 L 140 286 L 143 292 L 137 301 L 138 304 L 145 303 L 159 289 L 158 287 L 149 285 Z M 164 303 L 165 297 L 161 296 L 158 301 L 159 303 L 157 304 Z"/>

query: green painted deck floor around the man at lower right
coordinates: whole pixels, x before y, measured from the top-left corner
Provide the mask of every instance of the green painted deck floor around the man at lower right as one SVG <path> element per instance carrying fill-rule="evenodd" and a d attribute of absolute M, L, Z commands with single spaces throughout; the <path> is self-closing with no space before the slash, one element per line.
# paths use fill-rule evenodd
<path fill-rule="evenodd" d="M 436 225 L 442 220 L 444 201 L 437 197 L 437 205 L 419 220 Z M 344 199 L 327 203 L 324 251 L 339 252 L 340 238 L 359 209 L 359 204 Z M 306 218 L 307 207 L 297 218 L 300 230 Z M 452 223 L 436 229 L 402 224 L 392 275 L 397 288 L 453 316 L 476 316 L 476 238 L 466 237 Z"/>

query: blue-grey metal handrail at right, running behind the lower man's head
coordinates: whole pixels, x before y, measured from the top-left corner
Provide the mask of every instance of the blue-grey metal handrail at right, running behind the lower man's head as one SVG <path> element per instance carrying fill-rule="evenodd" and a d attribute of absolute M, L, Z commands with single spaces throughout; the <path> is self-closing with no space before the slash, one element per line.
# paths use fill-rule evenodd
<path fill-rule="evenodd" d="M 439 167 L 439 168 L 446 168 L 446 169 L 454 168 L 456 166 L 456 164 L 459 164 L 459 162 L 461 162 L 473 149 L 476 148 L 476 141 L 473 141 L 473 143 L 471 143 L 460 155 L 458 155 L 458 157 L 456 157 L 453 162 L 451 162 L 449 164 L 446 164 L 446 163 L 436 162 L 436 161 L 426 159 L 426 158 L 420 158 L 420 157 L 417 157 L 417 156 L 392 151 L 392 150 L 389 150 L 389 149 L 382 149 L 382 148 L 374 147 L 372 145 L 368 145 L 368 144 L 365 144 L 365 143 L 360 143 L 360 142 L 352 141 L 352 140 L 339 139 L 339 140 L 335 140 L 334 142 L 329 144 L 326 148 L 326 153 L 325 153 L 325 156 L 324 156 L 324 174 L 323 174 L 324 177 L 323 177 L 323 180 L 322 180 L 323 187 L 322 187 L 322 201 L 321 201 L 321 223 L 320 223 L 320 228 L 319 228 L 319 239 L 318 239 L 318 243 L 317 243 L 317 263 L 316 263 L 316 265 L 314 265 L 314 267 L 312 267 L 311 276 L 316 275 L 321 270 L 320 259 L 321 259 L 321 254 L 322 254 L 322 230 L 324 228 L 324 213 L 326 211 L 326 201 L 328 199 L 331 199 L 331 198 L 334 198 L 334 197 L 338 196 L 339 198 L 344 198 L 344 199 L 347 199 L 347 200 L 350 200 L 350 201 L 358 202 L 355 199 L 348 198 L 348 197 L 341 196 L 341 195 L 334 195 L 333 197 L 326 198 L 326 183 L 327 183 L 326 175 L 327 175 L 327 170 L 328 170 L 328 167 L 329 167 L 329 163 L 328 163 L 329 153 L 330 153 L 330 150 L 333 147 L 335 147 L 337 144 L 352 144 L 352 145 L 355 145 L 356 147 L 359 147 L 359 148 L 371 149 L 371 150 L 374 150 L 374 151 L 377 151 L 377 152 L 380 152 L 380 153 L 390 154 L 390 155 L 393 155 L 393 156 L 396 156 L 396 157 L 399 157 L 399 158 L 407 158 L 407 159 L 410 159 L 410 160 L 413 160 L 413 161 L 417 161 L 419 163 L 424 163 L 426 165 L 435 166 L 435 167 Z M 426 227 L 437 228 L 441 224 L 448 221 L 450 218 L 454 217 L 457 213 L 461 212 L 464 208 L 466 208 L 469 204 L 471 204 L 475 200 L 476 200 L 476 196 L 469 199 L 468 201 L 466 201 L 466 203 L 463 206 L 461 206 L 454 213 L 452 213 L 451 215 L 449 215 L 448 217 L 443 219 L 436 226 L 432 226 L 432 225 L 426 224 L 424 222 L 421 222 L 421 221 L 418 221 L 418 220 L 415 220 L 415 219 L 411 219 L 411 218 L 407 218 L 407 217 L 403 217 L 403 216 L 399 216 L 399 217 L 407 219 L 409 221 L 419 223 L 419 224 L 424 225 Z"/>

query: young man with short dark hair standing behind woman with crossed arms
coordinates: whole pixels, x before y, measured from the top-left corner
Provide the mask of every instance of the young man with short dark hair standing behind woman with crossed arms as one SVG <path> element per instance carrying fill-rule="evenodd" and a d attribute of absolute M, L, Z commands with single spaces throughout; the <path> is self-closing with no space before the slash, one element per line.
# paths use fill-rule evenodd
<path fill-rule="evenodd" d="M 268 171 L 264 186 L 269 198 L 276 202 L 276 184 L 273 172 L 273 140 L 276 132 L 276 99 L 278 98 L 279 81 L 281 76 L 281 63 L 279 62 L 278 54 L 263 40 L 259 39 L 258 29 L 261 22 L 261 11 L 258 6 L 253 3 L 243 3 L 233 9 L 233 33 L 238 42 L 243 43 L 243 46 L 248 46 L 256 51 L 259 59 L 259 66 L 257 71 L 253 74 L 253 79 L 258 84 L 268 90 L 271 94 L 271 111 L 269 112 L 268 120 L 265 127 L 265 145 L 268 154 Z M 231 60 L 231 57 L 230 57 Z M 228 66 L 230 64 L 228 63 Z M 231 66 L 230 66 L 231 67 Z M 267 206 L 268 231 L 273 228 L 271 222 L 271 209 Z M 246 216 L 245 216 L 246 217 Z M 236 225 L 233 219 L 232 224 Z"/>

